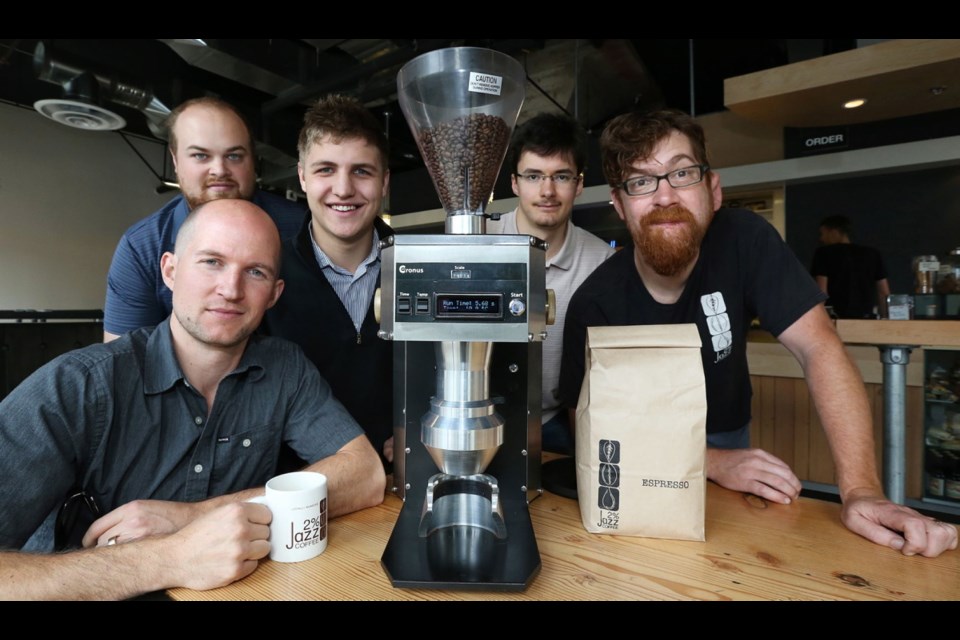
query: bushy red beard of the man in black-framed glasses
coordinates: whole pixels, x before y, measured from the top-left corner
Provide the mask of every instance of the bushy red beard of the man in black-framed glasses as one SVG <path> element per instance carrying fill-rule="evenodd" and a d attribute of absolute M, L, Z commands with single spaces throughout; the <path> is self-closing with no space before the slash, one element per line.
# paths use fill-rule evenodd
<path fill-rule="evenodd" d="M 669 230 L 657 226 L 665 222 L 684 224 Z M 706 228 L 697 223 L 688 209 L 675 205 L 651 211 L 631 233 L 634 245 L 651 269 L 661 276 L 675 276 L 696 259 Z"/>

